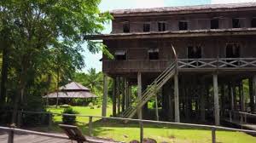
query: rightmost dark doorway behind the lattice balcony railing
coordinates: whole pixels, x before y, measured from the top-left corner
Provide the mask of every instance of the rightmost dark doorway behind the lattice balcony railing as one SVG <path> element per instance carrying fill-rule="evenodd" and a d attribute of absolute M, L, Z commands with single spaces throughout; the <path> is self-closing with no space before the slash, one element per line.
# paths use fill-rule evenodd
<path fill-rule="evenodd" d="M 230 60 L 226 60 L 228 63 L 238 66 L 239 62 L 232 58 L 240 57 L 240 45 L 237 43 L 229 43 L 226 45 L 226 58 L 230 58 Z M 227 65 L 228 67 L 234 67 L 232 65 Z"/>

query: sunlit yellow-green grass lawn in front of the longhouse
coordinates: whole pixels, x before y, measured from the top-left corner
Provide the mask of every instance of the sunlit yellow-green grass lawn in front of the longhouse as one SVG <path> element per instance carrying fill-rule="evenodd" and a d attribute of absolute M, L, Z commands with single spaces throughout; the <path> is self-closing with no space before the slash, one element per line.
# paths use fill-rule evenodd
<path fill-rule="evenodd" d="M 89 107 L 73 106 L 73 109 L 80 114 L 101 116 L 102 109 Z M 63 108 L 49 107 L 49 112 L 61 113 Z M 112 107 L 108 107 L 108 116 L 112 114 Z M 100 118 L 94 118 L 93 135 L 128 142 L 130 140 L 139 140 L 139 126 L 137 123 L 121 123 L 119 121 L 102 121 Z M 60 132 L 57 127 L 61 123 L 61 116 L 54 117 L 55 125 L 53 130 Z M 84 134 L 88 134 L 89 117 L 77 117 L 77 125 Z M 200 128 L 189 128 L 184 126 L 167 126 L 144 123 L 144 137 L 149 137 L 158 142 L 175 143 L 210 143 L 211 130 Z M 218 143 L 255 143 L 256 137 L 241 132 L 230 132 L 219 130 L 216 133 Z"/>

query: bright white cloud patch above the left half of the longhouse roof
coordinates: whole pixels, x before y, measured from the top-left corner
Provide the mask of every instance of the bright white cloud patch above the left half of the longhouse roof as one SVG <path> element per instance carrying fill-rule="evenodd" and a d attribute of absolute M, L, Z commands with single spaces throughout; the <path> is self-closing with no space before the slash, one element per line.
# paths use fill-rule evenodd
<path fill-rule="evenodd" d="M 157 8 L 164 7 L 164 0 L 133 0 L 136 8 Z"/>

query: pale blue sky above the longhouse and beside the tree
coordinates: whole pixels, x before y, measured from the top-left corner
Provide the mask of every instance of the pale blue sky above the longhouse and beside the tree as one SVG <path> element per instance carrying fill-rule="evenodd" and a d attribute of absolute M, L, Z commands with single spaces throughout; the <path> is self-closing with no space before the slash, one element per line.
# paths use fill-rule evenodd
<path fill-rule="evenodd" d="M 155 7 L 172 7 L 200 4 L 216 4 L 216 3 L 246 3 L 256 2 L 256 0 L 102 0 L 99 8 L 102 12 L 113 9 L 136 9 L 136 8 L 155 8 Z M 105 26 L 103 33 L 111 31 L 111 25 Z M 102 71 L 102 53 L 90 54 L 84 44 L 84 63 L 83 72 L 87 72 L 90 68 L 96 68 L 97 72 Z"/>

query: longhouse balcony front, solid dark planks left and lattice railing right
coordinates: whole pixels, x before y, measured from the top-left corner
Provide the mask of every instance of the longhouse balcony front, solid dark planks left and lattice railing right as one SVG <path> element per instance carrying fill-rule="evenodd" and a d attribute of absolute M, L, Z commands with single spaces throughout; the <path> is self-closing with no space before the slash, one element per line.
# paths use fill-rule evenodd
<path fill-rule="evenodd" d="M 103 72 L 162 72 L 174 60 L 103 60 Z M 256 71 L 256 58 L 177 59 L 180 72 Z"/>

